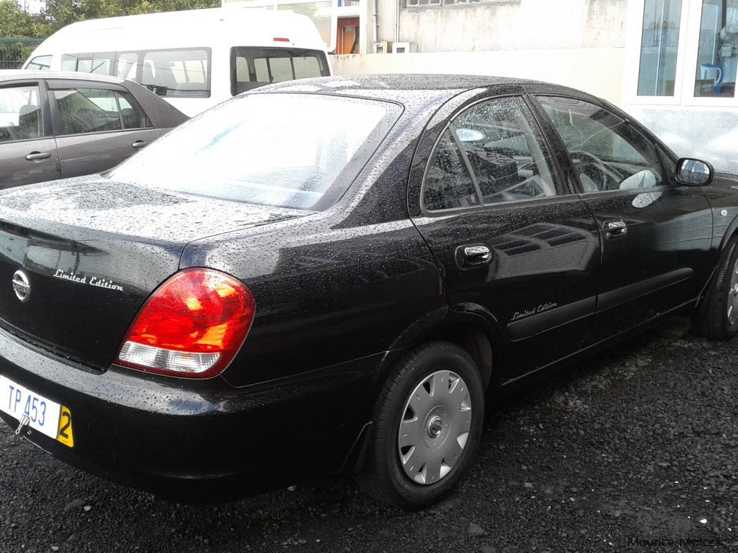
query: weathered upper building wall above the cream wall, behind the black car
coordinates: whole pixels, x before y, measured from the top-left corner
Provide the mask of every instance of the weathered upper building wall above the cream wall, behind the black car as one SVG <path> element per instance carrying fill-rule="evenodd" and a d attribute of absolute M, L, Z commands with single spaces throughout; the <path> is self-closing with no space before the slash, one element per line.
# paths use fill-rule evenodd
<path fill-rule="evenodd" d="M 399 0 L 401 5 L 407 0 Z M 628 0 L 503 0 L 400 10 L 399 41 L 418 52 L 613 48 Z M 394 41 L 396 0 L 379 0 L 379 40 Z"/>

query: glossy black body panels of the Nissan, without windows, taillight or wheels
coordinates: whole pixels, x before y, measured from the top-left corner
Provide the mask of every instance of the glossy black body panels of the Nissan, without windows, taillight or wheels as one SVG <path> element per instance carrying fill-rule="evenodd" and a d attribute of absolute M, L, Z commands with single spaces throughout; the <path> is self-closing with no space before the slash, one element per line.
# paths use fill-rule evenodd
<path fill-rule="evenodd" d="M 354 470 L 385 375 L 407 349 L 455 341 L 500 392 L 697 307 L 738 230 L 738 181 L 678 185 L 677 157 L 637 123 L 672 180 L 635 204 L 635 191 L 582 193 L 535 97 L 582 98 L 627 116 L 579 91 L 490 77 L 368 76 L 255 94 L 306 89 L 404 106 L 323 211 L 99 177 L 0 196 L 0 374 L 69 406 L 75 421 L 73 449 L 35 431 L 28 439 L 86 470 L 190 501 Z M 560 195 L 424 212 L 421 182 L 449 119 L 510 95 L 525 99 L 545 134 Z M 609 240 L 602 225 L 612 219 L 632 232 Z M 459 248 L 480 244 L 492 249 L 489 265 L 464 265 Z M 111 365 L 146 297 L 178 269 L 199 266 L 238 277 L 256 298 L 232 364 L 204 381 Z M 10 286 L 20 267 L 37 294 L 23 305 Z M 58 270 L 124 291 L 91 291 L 55 279 Z"/>

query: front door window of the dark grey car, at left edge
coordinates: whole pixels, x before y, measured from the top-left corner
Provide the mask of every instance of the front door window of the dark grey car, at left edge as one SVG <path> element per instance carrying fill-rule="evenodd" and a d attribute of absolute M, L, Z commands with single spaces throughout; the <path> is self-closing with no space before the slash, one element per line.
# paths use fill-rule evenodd
<path fill-rule="evenodd" d="M 0 88 L 0 142 L 44 136 L 38 86 Z"/>

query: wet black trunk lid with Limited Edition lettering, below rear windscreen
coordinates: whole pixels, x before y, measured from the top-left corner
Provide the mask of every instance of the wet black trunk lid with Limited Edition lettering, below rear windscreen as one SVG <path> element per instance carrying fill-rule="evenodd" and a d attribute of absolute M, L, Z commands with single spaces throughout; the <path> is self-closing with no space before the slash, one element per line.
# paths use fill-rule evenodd
<path fill-rule="evenodd" d="M 307 214 L 100 176 L 7 189 L 0 193 L 0 325 L 59 355 L 109 366 L 187 243 Z M 26 298 L 14 283 L 21 278 Z"/>

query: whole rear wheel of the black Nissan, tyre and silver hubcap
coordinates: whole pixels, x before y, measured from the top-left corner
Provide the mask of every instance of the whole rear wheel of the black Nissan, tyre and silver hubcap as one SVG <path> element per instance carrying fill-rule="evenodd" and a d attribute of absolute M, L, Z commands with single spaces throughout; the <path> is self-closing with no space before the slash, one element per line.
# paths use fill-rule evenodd
<path fill-rule="evenodd" d="M 484 421 L 483 388 L 474 361 L 455 344 L 434 341 L 409 352 L 391 372 L 374 408 L 365 470 L 356 476 L 363 490 L 407 510 L 446 497 L 477 449 Z M 400 448 L 401 425 L 408 431 L 403 440 L 416 445 Z M 427 463 L 421 465 L 423 461 Z M 419 483 L 421 479 L 426 482 Z"/>

